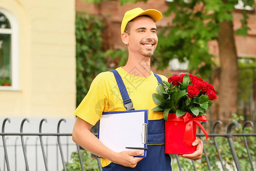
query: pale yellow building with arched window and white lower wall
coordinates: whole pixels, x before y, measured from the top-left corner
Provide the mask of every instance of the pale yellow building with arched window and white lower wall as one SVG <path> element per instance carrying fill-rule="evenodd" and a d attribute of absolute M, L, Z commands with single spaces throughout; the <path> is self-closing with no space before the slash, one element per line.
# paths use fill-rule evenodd
<path fill-rule="evenodd" d="M 42 132 L 57 133 L 59 119 L 65 118 L 60 132 L 71 133 L 75 71 L 75 1 L 0 0 L 0 125 L 10 118 L 5 132 L 19 132 L 26 117 L 29 123 L 24 123 L 24 133 L 38 133 L 43 118 L 47 123 Z M 10 170 L 25 169 L 20 137 L 5 139 Z M 30 170 L 45 170 L 38 136 L 25 140 Z M 43 137 L 43 141 L 50 152 L 49 170 L 62 169 L 61 161 L 56 162 L 56 138 Z M 65 151 L 65 156 L 73 150 Z M 5 170 L 2 141 L 0 154 L 0 170 Z"/>

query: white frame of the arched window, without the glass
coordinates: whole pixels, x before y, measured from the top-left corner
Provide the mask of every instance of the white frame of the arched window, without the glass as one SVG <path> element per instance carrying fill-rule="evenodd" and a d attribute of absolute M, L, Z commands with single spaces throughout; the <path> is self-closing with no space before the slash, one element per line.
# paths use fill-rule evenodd
<path fill-rule="evenodd" d="M 17 91 L 18 90 L 18 23 L 17 19 L 9 11 L 0 7 L 9 20 L 11 28 L 0 28 L 1 33 L 11 34 L 11 86 L 0 86 L 0 91 Z"/>

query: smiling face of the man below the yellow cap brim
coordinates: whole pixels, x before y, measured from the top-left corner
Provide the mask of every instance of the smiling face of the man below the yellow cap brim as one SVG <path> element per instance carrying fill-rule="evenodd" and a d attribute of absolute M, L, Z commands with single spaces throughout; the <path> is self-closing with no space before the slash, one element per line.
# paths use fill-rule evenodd
<path fill-rule="evenodd" d="M 157 26 L 152 18 L 142 16 L 132 21 L 127 43 L 130 52 L 151 57 L 157 42 Z"/>

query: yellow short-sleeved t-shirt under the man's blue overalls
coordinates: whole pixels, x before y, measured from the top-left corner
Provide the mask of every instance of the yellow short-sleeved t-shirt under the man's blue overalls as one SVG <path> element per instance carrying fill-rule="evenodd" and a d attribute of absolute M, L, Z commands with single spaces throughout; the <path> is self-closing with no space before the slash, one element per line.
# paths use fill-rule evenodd
<path fill-rule="evenodd" d="M 162 112 L 151 111 L 157 104 L 154 103 L 152 94 L 157 93 L 157 78 L 153 72 L 146 78 L 129 74 L 122 67 L 116 69 L 121 75 L 123 83 L 127 89 L 130 99 L 133 101 L 135 110 L 148 109 L 149 120 L 163 118 Z M 134 72 L 138 72 L 134 69 Z M 162 80 L 167 80 L 163 75 L 159 75 Z M 95 125 L 101 119 L 102 112 L 126 111 L 123 100 L 114 74 L 112 72 L 102 72 L 97 75 L 91 83 L 89 92 L 79 104 L 74 114 Z M 109 165 L 111 161 L 101 158 L 102 166 Z"/>

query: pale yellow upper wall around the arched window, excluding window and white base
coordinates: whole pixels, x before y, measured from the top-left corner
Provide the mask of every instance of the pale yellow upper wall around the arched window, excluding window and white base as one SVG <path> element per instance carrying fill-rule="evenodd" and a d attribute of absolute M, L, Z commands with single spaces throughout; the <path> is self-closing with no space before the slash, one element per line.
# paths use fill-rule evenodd
<path fill-rule="evenodd" d="M 0 0 L 18 22 L 18 90 L 0 117 L 74 117 L 75 1 Z"/>

